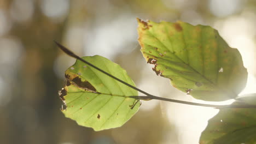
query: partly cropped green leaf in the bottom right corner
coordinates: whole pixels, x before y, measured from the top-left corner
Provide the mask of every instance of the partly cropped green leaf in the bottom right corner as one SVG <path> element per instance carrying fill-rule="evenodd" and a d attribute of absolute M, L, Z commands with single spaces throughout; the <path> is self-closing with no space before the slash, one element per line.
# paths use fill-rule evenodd
<path fill-rule="evenodd" d="M 243 97 L 232 105 L 243 101 L 256 104 L 256 94 Z M 208 121 L 200 137 L 200 144 L 256 143 L 256 109 L 226 108 Z"/>

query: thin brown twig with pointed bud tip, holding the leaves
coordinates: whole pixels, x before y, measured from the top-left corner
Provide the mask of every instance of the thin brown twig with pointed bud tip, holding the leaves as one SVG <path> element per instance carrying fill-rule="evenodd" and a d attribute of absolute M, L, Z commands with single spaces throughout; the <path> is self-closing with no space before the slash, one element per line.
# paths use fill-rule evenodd
<path fill-rule="evenodd" d="M 216 109 L 223 109 L 223 108 L 256 108 L 256 105 L 210 105 L 210 104 L 201 104 L 201 103 L 193 103 L 193 102 L 189 102 L 189 101 L 183 101 L 183 100 L 175 100 L 175 99 L 168 99 L 168 98 L 162 98 L 162 97 L 157 97 L 155 95 L 152 95 L 152 94 L 149 94 L 145 91 L 142 91 L 141 89 L 135 87 L 135 86 L 132 86 L 130 85 L 129 83 L 123 81 L 123 80 L 120 80 L 118 79 L 117 77 L 107 73 L 106 71 L 96 67 L 95 65 L 85 61 L 84 59 L 82 59 L 81 57 L 79 57 L 78 55 L 75 55 L 75 53 L 73 53 L 72 51 L 68 50 L 65 46 L 57 43 L 57 41 L 54 41 L 55 44 L 60 47 L 60 49 L 65 52 L 68 56 L 71 56 L 71 57 L 74 57 L 75 59 L 78 59 L 88 65 L 90 65 L 92 68 L 95 68 L 97 69 L 98 71 L 101 71 L 101 73 L 104 73 L 106 75 L 108 75 L 109 77 L 112 77 L 113 79 L 123 83 L 124 85 L 132 88 L 132 89 L 135 89 L 136 91 L 138 92 L 141 92 L 147 96 L 130 96 L 130 98 L 135 98 L 135 99 L 140 99 L 140 100 L 163 100 L 163 101 L 170 101 L 170 102 L 173 102 L 173 103 L 179 103 L 179 104 L 187 104 L 187 105 L 195 105 L 195 106 L 204 106 L 204 107 L 213 107 L 213 108 L 216 108 Z"/>

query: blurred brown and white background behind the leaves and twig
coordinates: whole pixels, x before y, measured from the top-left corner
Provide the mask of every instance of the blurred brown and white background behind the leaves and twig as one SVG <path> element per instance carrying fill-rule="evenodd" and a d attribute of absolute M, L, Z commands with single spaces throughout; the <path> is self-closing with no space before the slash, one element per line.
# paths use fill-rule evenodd
<path fill-rule="evenodd" d="M 0 0 L 0 143 L 198 143 L 218 110 L 142 101 L 123 127 L 99 132 L 77 125 L 60 111 L 57 92 L 75 59 L 53 40 L 80 56 L 101 55 L 120 64 L 138 88 L 151 94 L 206 103 L 177 91 L 146 64 L 136 17 L 218 29 L 241 52 L 248 70 L 242 93 L 256 92 L 256 1 Z"/>

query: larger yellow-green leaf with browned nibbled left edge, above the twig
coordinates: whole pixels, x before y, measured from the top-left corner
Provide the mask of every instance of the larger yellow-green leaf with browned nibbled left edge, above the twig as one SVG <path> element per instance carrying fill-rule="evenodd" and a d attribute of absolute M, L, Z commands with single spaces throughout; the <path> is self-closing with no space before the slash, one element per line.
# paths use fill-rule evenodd
<path fill-rule="evenodd" d="M 210 26 L 138 19 L 138 35 L 141 52 L 155 65 L 155 73 L 196 99 L 232 99 L 246 85 L 240 53 Z"/>

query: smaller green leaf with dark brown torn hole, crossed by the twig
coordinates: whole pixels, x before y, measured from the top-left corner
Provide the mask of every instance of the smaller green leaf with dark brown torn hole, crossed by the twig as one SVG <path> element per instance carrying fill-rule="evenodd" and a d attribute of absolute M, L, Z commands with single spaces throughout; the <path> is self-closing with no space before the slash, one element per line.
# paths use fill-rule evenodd
<path fill-rule="evenodd" d="M 92 56 L 83 59 L 135 86 L 126 71 L 107 58 Z M 66 104 L 62 112 L 79 125 L 96 131 L 120 127 L 139 109 L 136 99 L 129 98 L 138 96 L 137 91 L 81 61 L 77 60 L 69 67 L 65 76 L 67 84 L 60 91 L 60 98 Z"/>

